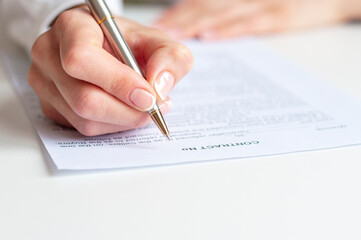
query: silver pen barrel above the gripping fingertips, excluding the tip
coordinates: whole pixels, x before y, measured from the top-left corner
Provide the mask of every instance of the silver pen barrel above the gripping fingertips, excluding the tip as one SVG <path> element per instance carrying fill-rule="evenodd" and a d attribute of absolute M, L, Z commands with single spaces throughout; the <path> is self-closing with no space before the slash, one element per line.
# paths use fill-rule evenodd
<path fill-rule="evenodd" d="M 104 0 L 85 0 L 95 20 L 99 23 L 103 33 L 120 61 L 131 67 L 144 77 L 137 61 L 129 49 L 127 42 L 121 34 L 116 22 L 113 20 L 109 7 Z"/>

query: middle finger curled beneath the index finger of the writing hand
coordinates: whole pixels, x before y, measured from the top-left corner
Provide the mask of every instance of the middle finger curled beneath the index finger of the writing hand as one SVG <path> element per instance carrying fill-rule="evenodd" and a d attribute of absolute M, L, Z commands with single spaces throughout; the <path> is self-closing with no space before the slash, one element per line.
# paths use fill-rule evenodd
<path fill-rule="evenodd" d="M 48 41 L 39 41 L 41 41 L 45 49 L 50 48 L 50 46 L 47 46 L 50 44 Z M 34 59 L 34 61 L 37 61 L 37 59 Z M 51 51 L 44 51 L 41 54 L 41 61 L 42 67 L 51 72 L 51 76 L 49 76 L 51 80 L 48 81 L 54 81 L 62 98 L 64 98 L 66 103 L 78 116 L 92 121 L 130 127 L 143 122 L 143 119 L 147 117 L 146 113 L 129 107 L 96 85 L 74 79 L 67 75 L 61 68 L 60 60 L 54 57 Z M 32 78 L 36 77 L 39 79 L 38 81 L 46 78 L 46 76 L 44 77 L 36 71 L 36 68 L 31 68 L 31 71 L 29 71 L 29 79 L 30 75 L 32 75 Z M 43 80 L 43 82 L 45 84 L 47 81 Z M 47 84 L 48 83 L 45 85 Z M 49 89 L 51 90 L 52 88 Z M 41 91 L 39 91 L 39 93 L 44 95 L 49 92 L 49 89 L 44 89 L 44 93 Z M 46 96 L 46 99 L 49 98 L 52 98 L 51 94 Z M 55 102 L 55 100 L 52 102 Z"/>

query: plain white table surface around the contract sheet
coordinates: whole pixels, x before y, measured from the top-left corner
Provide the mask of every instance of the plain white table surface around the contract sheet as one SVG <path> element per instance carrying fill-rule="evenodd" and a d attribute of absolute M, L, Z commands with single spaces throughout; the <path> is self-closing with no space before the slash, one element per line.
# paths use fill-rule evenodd
<path fill-rule="evenodd" d="M 260 39 L 361 99 L 361 24 Z M 361 146 L 80 174 L 40 146 L 1 70 L 0 239 L 361 239 Z"/>

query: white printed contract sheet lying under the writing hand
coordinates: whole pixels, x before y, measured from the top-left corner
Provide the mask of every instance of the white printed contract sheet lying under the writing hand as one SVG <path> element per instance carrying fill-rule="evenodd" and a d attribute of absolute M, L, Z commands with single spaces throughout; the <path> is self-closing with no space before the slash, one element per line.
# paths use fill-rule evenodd
<path fill-rule="evenodd" d="M 44 117 L 26 82 L 29 60 L 7 54 L 15 88 L 59 170 L 133 168 L 239 159 L 361 143 L 361 102 L 255 40 L 190 42 L 194 69 L 175 87 L 165 116 L 172 141 L 154 123 L 85 137 Z"/>

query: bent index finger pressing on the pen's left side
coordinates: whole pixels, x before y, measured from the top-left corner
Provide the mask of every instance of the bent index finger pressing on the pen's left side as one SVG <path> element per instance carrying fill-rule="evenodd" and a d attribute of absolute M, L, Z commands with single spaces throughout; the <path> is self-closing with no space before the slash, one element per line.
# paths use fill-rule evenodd
<path fill-rule="evenodd" d="M 141 111 L 153 108 L 156 99 L 151 86 L 134 70 L 103 49 L 100 27 L 89 12 L 78 10 L 67 18 L 61 15 L 54 25 L 58 32 L 61 65 L 72 78 L 92 83 L 122 102 Z M 70 21 L 70 22 L 69 22 Z M 76 24 L 72 24 L 72 21 Z M 70 24 L 70 27 L 68 26 Z M 65 24 L 64 24 L 65 25 Z"/>

